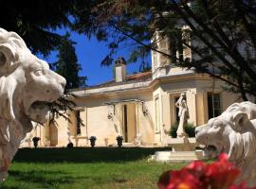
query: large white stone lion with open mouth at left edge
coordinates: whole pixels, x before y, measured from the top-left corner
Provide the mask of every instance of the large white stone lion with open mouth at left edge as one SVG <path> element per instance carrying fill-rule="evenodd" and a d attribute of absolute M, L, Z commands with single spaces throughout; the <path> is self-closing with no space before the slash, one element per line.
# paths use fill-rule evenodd
<path fill-rule="evenodd" d="M 46 103 L 58 99 L 64 86 L 64 77 L 32 55 L 17 33 L 0 28 L 0 181 L 31 121 L 46 122 Z"/>

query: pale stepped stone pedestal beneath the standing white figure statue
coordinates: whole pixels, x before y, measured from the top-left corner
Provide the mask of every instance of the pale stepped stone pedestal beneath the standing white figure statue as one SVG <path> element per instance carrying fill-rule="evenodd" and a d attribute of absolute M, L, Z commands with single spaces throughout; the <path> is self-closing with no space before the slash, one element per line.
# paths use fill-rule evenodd
<path fill-rule="evenodd" d="M 196 160 L 206 159 L 203 150 L 195 150 L 198 144 L 195 138 L 170 138 L 168 146 L 172 146 L 170 151 L 156 151 L 149 161 L 162 163 L 189 163 Z"/>

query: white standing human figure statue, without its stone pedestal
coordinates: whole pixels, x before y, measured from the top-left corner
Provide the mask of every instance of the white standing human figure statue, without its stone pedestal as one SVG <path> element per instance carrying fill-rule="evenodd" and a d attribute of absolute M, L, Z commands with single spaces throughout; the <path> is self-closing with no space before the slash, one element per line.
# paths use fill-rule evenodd
<path fill-rule="evenodd" d="M 186 102 L 186 94 L 180 94 L 180 97 L 175 103 L 178 108 L 179 124 L 177 129 L 177 137 L 187 137 L 188 134 L 184 131 L 184 125 L 189 119 L 189 110 Z"/>

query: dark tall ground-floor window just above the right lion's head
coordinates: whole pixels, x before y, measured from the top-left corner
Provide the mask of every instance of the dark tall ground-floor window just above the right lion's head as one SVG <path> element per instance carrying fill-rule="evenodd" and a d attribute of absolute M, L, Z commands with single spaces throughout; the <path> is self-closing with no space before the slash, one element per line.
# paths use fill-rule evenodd
<path fill-rule="evenodd" d="M 208 93 L 208 118 L 221 114 L 220 94 Z"/>

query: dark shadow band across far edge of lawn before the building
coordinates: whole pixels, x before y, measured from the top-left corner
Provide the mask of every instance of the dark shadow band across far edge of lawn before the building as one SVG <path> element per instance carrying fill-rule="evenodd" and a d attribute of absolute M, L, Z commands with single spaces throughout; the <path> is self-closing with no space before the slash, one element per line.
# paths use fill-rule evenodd
<path fill-rule="evenodd" d="M 74 147 L 21 148 L 14 161 L 19 163 L 113 163 L 148 158 L 167 147 Z"/>

